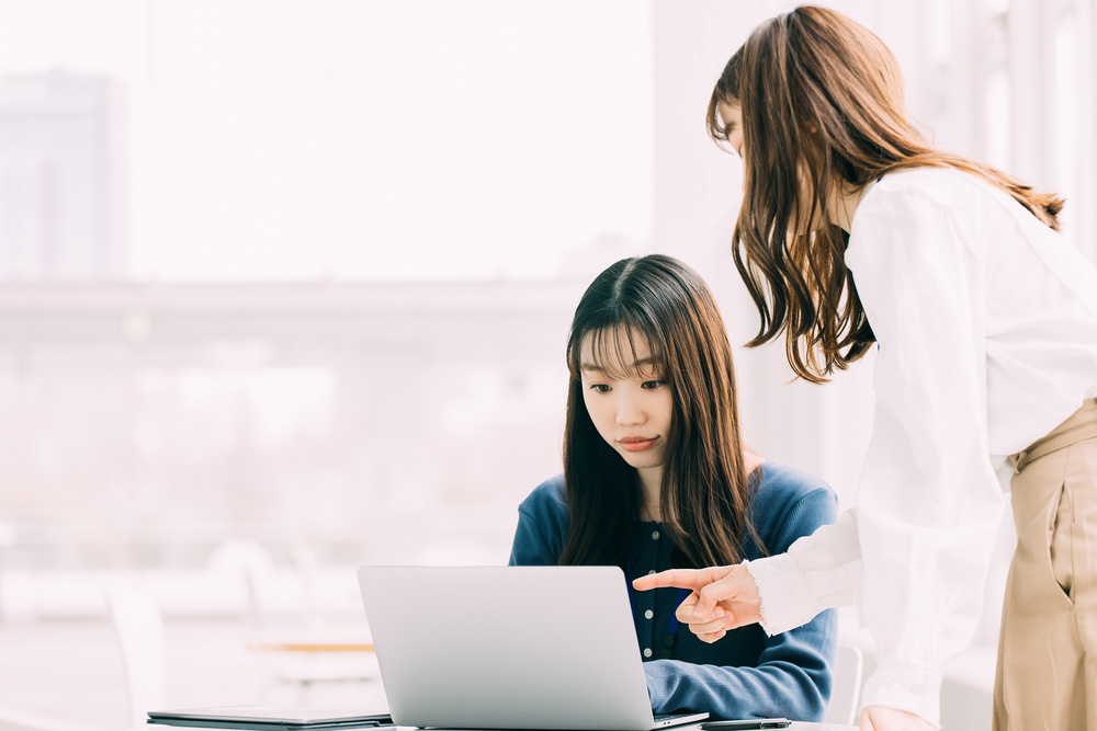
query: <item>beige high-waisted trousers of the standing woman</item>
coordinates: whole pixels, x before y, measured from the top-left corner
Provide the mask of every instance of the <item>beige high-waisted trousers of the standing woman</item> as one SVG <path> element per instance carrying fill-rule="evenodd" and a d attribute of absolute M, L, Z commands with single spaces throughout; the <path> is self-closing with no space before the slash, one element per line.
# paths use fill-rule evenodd
<path fill-rule="evenodd" d="M 1097 731 L 1097 399 L 1014 457 L 995 731 Z"/>

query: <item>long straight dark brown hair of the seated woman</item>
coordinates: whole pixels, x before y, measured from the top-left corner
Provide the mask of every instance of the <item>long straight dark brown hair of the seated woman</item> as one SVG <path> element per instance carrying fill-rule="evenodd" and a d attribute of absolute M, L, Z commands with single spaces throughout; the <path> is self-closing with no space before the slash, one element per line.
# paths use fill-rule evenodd
<path fill-rule="evenodd" d="M 623 259 L 598 275 L 572 320 L 564 426 L 570 530 L 559 563 L 626 564 L 640 480 L 587 412 L 580 354 L 586 342 L 601 367 L 635 363 L 641 338 L 672 396 L 659 509 L 680 553 L 676 562 L 736 563 L 745 536 L 765 550 L 747 516 L 754 482 L 744 467 L 732 347 L 720 310 L 692 269 L 651 255 Z"/>

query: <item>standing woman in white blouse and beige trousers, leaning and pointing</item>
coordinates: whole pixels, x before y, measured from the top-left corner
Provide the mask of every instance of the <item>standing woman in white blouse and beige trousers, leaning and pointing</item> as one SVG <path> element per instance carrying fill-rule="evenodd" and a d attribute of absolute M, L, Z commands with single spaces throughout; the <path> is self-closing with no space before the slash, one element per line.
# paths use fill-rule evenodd
<path fill-rule="evenodd" d="M 1097 271 L 1056 233 L 1062 199 L 930 146 L 887 48 L 822 8 L 754 31 L 708 125 L 744 160 L 750 345 L 783 334 L 816 382 L 877 349 L 872 437 L 836 526 L 637 587 L 693 589 L 679 616 L 710 641 L 857 602 L 880 661 L 861 728 L 930 728 L 980 617 L 1005 467 L 1018 546 L 995 728 L 1097 730 Z"/>

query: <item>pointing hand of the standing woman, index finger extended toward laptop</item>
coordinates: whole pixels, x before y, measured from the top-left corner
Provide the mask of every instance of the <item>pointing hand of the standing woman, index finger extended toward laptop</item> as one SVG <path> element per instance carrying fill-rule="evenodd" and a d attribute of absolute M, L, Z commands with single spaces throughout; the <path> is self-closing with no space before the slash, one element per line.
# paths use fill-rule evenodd
<path fill-rule="evenodd" d="M 678 621 L 705 642 L 715 642 L 727 630 L 761 620 L 758 585 L 744 566 L 711 569 L 671 569 L 632 582 L 637 591 L 676 586 L 692 593 L 678 607 Z"/>

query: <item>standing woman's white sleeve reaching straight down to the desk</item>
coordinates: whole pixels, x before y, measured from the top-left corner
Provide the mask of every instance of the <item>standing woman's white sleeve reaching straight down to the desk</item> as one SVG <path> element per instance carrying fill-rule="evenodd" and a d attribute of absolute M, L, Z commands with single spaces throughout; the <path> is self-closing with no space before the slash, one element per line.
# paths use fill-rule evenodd
<path fill-rule="evenodd" d="M 1004 502 L 987 438 L 984 276 L 961 205 L 870 191 L 846 255 L 879 343 L 856 521 L 879 669 L 861 703 L 932 723 L 941 669 L 979 623 Z"/>

